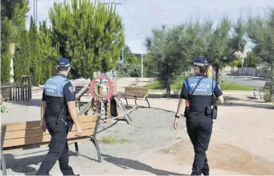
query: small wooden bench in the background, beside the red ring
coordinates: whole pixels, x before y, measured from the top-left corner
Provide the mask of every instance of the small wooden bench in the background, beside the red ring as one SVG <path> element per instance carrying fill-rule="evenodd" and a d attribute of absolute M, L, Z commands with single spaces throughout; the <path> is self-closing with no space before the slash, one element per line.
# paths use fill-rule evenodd
<path fill-rule="evenodd" d="M 124 98 L 127 102 L 127 99 L 135 99 L 135 105 L 137 105 L 137 100 L 145 100 L 147 102 L 148 107 L 150 107 L 150 103 L 147 99 L 148 89 L 146 87 L 125 87 L 124 94 L 120 94 L 120 98 Z M 127 102 L 127 105 L 129 103 Z"/>

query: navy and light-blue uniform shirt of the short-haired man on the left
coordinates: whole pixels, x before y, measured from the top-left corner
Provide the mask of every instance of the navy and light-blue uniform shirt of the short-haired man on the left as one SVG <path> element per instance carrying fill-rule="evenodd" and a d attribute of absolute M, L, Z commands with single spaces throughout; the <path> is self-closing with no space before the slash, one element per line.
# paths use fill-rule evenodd
<path fill-rule="evenodd" d="M 64 74 L 57 73 L 45 83 L 42 100 L 47 102 L 46 116 L 47 113 L 58 116 L 63 107 L 65 107 L 63 114 L 69 115 L 67 102 L 75 99 L 72 83 Z"/>

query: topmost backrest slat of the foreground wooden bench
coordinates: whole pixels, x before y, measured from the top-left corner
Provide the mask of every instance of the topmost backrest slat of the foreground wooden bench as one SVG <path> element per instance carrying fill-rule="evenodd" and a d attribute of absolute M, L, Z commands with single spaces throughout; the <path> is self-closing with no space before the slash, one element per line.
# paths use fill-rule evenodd
<path fill-rule="evenodd" d="M 79 116 L 79 123 L 92 122 L 97 120 L 98 114 L 92 114 L 88 116 Z M 6 132 L 17 131 L 17 130 L 30 130 L 40 128 L 40 121 L 30 121 L 22 123 L 7 123 Z"/>

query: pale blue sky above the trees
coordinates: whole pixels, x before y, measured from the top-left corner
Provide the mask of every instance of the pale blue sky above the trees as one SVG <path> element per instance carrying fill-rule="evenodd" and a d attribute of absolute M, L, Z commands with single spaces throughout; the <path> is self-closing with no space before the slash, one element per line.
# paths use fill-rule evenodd
<path fill-rule="evenodd" d="M 28 13 L 26 26 L 33 15 L 33 0 L 30 0 L 31 10 Z M 38 0 L 38 21 L 48 18 L 48 11 L 54 1 Z M 107 0 L 105 0 L 107 1 Z M 218 21 L 221 17 L 236 20 L 242 15 L 263 14 L 264 10 L 274 7 L 274 0 L 115 0 L 118 13 L 124 21 L 126 44 L 134 53 L 145 53 L 145 38 L 151 35 L 152 28 L 165 24 L 175 26 L 189 19 L 212 19 Z"/>

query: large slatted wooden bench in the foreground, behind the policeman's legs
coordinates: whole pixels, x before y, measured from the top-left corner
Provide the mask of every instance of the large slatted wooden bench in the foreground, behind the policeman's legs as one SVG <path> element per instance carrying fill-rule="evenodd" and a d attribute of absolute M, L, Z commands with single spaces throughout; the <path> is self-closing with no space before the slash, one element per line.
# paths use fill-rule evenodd
<path fill-rule="evenodd" d="M 79 116 L 79 123 L 82 127 L 82 136 L 76 137 L 76 127 L 72 127 L 72 131 L 67 134 L 68 143 L 74 143 L 76 156 L 79 155 L 78 142 L 88 141 L 91 139 L 97 150 L 98 161 L 102 162 L 99 145 L 96 134 L 99 126 L 100 116 L 87 115 Z M 6 162 L 3 152 L 6 150 L 27 150 L 30 148 L 47 147 L 51 141 L 48 131 L 42 132 L 40 129 L 40 121 L 29 121 L 24 123 L 6 123 L 1 125 L 1 170 L 6 175 Z"/>

